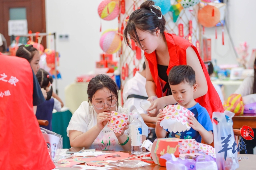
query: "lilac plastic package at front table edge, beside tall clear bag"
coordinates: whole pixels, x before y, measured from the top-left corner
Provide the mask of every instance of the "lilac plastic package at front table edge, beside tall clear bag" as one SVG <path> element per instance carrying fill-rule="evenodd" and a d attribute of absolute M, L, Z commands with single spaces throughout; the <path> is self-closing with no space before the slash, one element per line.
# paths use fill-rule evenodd
<path fill-rule="evenodd" d="M 196 170 L 218 170 L 216 159 L 209 155 L 200 155 L 196 158 Z"/>

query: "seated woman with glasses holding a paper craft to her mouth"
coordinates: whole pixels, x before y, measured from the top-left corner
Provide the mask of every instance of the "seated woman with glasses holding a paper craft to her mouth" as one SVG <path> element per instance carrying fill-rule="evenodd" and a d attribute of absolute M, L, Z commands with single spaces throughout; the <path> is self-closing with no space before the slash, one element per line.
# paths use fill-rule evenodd
<path fill-rule="evenodd" d="M 93 77 L 88 84 L 87 94 L 88 102 L 84 101 L 80 105 L 69 122 L 67 133 L 70 145 L 104 151 L 130 151 L 130 122 L 127 122 L 121 134 L 110 131 L 107 125 L 112 111 L 127 115 L 130 112 L 127 108 L 118 106 L 117 85 L 114 80 L 104 74 Z M 142 123 L 144 141 L 148 136 L 148 126 L 141 117 L 139 120 Z"/>

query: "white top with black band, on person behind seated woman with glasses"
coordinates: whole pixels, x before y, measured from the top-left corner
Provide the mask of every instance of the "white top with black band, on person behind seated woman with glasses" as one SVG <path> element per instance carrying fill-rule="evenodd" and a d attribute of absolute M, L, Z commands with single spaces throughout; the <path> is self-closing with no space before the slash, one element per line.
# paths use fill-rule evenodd
<path fill-rule="evenodd" d="M 124 89 L 123 89 L 124 107 L 128 107 L 129 105 L 134 105 L 140 114 L 147 114 L 147 112 L 140 107 L 140 101 L 143 99 L 137 99 L 137 98 L 127 99 L 127 97 L 131 94 L 137 94 L 140 96 L 148 97 L 148 94 L 146 92 L 146 78 L 143 77 L 139 73 L 139 71 L 137 71 L 134 77 L 128 80 L 124 85 Z"/>

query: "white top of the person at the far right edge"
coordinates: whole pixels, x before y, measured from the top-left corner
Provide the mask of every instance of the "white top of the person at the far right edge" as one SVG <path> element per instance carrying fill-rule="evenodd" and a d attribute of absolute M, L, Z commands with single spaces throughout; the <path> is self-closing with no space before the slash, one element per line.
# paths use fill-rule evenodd
<path fill-rule="evenodd" d="M 254 81 L 254 77 L 252 77 L 252 76 L 244 78 L 244 81 L 238 87 L 238 89 L 236 89 L 235 93 L 241 94 L 242 97 L 252 94 L 253 93 L 253 87 L 252 87 L 253 81 Z"/>

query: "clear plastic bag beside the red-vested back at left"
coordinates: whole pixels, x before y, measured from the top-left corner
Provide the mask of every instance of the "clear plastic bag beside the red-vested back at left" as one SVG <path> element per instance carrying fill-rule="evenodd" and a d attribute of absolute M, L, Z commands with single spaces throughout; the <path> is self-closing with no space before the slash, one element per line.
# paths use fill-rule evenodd
<path fill-rule="evenodd" d="M 41 132 L 43 133 L 44 140 L 46 142 L 49 155 L 54 163 L 58 162 L 58 156 L 60 154 L 60 149 L 62 149 L 62 137 L 60 134 L 57 134 L 51 130 L 44 129 L 40 127 Z"/>

